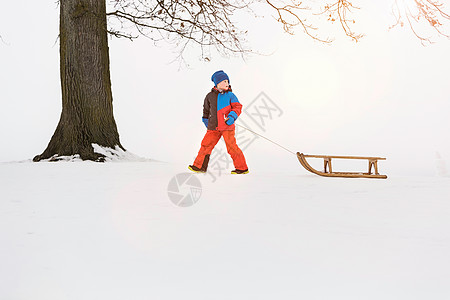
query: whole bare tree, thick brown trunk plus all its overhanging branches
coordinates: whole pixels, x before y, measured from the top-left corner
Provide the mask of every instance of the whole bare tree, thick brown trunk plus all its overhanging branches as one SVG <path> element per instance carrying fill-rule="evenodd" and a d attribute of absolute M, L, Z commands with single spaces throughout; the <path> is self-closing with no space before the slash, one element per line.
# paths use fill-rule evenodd
<path fill-rule="evenodd" d="M 398 1 L 403 0 L 395 0 L 397 7 Z M 414 1 L 417 13 L 398 9 L 397 23 L 402 24 L 405 17 L 409 22 L 425 19 L 444 35 L 440 26 L 450 18 L 442 5 L 434 0 Z M 325 2 L 316 13 L 298 0 L 110 0 L 108 12 L 106 0 L 60 0 L 62 113 L 47 148 L 33 160 L 56 161 L 60 156 L 78 154 L 83 160 L 102 161 L 93 143 L 125 150 L 113 116 L 108 34 L 169 41 L 179 47 L 180 57 L 189 44 L 199 46 L 205 60 L 210 59 L 210 49 L 225 55 L 246 54 L 251 52 L 245 45 L 246 32 L 234 25 L 232 16 L 242 10 L 255 15 L 252 5 L 258 3 L 273 9 L 289 34 L 299 27 L 314 40 L 330 43 L 332 40 L 320 37 L 308 21 L 325 17 L 352 40 L 363 36 L 351 29 L 355 20 L 350 15 L 357 8 L 348 0 Z"/>

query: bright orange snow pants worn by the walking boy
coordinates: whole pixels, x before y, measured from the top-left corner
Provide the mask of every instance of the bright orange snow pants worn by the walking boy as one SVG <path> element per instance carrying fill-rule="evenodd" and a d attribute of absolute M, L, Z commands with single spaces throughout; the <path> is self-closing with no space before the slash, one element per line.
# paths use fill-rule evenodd
<path fill-rule="evenodd" d="M 236 144 L 234 130 L 206 131 L 205 137 L 202 140 L 200 151 L 198 151 L 197 158 L 194 161 L 194 166 L 206 171 L 208 168 L 209 156 L 211 155 L 214 146 L 222 136 L 225 141 L 225 145 L 227 146 L 228 154 L 230 154 L 231 159 L 233 160 L 234 167 L 238 170 L 247 170 L 248 167 L 245 162 L 244 153 L 242 153 L 242 150 Z"/>

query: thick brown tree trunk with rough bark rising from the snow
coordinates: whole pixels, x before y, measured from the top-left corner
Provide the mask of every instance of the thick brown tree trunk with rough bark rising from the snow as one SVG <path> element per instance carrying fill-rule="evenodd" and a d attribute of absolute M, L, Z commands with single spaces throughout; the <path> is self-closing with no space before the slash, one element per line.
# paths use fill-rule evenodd
<path fill-rule="evenodd" d="M 113 116 L 105 0 L 60 1 L 62 113 L 47 149 L 33 160 L 79 154 L 102 160 L 92 143 L 123 149 Z"/>

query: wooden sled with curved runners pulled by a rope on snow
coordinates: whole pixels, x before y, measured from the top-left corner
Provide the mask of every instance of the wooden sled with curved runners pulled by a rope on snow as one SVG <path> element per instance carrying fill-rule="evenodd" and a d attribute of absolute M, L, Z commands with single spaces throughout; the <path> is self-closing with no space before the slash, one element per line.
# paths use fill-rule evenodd
<path fill-rule="evenodd" d="M 306 157 L 312 158 L 323 158 L 323 172 L 317 171 L 306 161 Z M 332 156 L 332 155 L 307 155 L 297 152 L 297 158 L 302 164 L 302 166 L 317 175 L 326 177 L 347 177 L 347 178 L 380 178 L 386 179 L 386 175 L 380 175 L 378 173 L 378 161 L 386 160 L 384 157 L 361 157 L 361 156 Z M 332 159 L 365 159 L 369 162 L 369 171 L 367 173 L 357 173 L 357 172 L 333 172 L 331 167 Z M 372 167 L 374 173 L 372 174 Z"/>

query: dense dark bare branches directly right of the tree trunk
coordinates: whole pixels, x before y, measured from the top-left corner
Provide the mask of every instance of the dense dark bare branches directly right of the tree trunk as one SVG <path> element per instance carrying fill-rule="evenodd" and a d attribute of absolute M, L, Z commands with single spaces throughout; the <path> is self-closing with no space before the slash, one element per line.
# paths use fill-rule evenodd
<path fill-rule="evenodd" d="M 238 30 L 231 17 L 248 7 L 225 0 L 113 0 L 113 11 L 107 14 L 120 28 L 108 31 L 117 37 L 134 39 L 139 35 L 154 41 L 165 40 L 184 52 L 190 43 L 203 48 L 214 47 L 222 54 L 251 52 L 243 43 L 245 32 Z M 135 32 L 130 33 L 131 32 Z M 202 56 L 203 57 L 203 56 Z"/>

